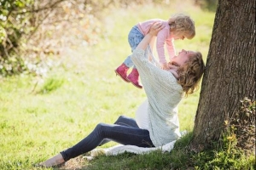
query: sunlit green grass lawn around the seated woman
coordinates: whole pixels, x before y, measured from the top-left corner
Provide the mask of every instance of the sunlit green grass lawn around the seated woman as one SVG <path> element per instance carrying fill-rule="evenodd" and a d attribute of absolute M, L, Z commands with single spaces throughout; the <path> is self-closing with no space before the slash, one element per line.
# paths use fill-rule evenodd
<path fill-rule="evenodd" d="M 36 169 L 33 163 L 76 144 L 98 122 L 112 123 L 119 115 L 133 117 L 145 94 L 113 72 L 130 54 L 127 34 L 138 21 L 167 20 L 177 12 L 189 14 L 197 32 L 193 40 L 175 42 L 177 51 L 199 50 L 206 58 L 213 13 L 202 11 L 189 1 L 163 6 L 148 4 L 102 14 L 104 34 L 99 42 L 92 47 L 79 43 L 63 48 L 44 79 L 0 79 L 0 169 Z M 179 105 L 181 130 L 191 131 L 194 127 L 198 98 L 199 92 Z M 102 156 L 94 161 L 79 157 L 70 161 L 66 169 L 170 169 L 171 162 L 161 165 L 165 159 L 168 156 L 159 152 L 147 156 Z"/>

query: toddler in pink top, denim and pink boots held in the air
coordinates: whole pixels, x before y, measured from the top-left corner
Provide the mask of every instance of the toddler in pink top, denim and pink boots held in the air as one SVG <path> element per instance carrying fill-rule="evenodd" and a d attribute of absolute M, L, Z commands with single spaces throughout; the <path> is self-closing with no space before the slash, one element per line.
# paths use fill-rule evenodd
<path fill-rule="evenodd" d="M 132 27 L 128 35 L 131 52 L 133 52 L 133 50 L 137 48 L 137 45 L 143 40 L 143 37 L 148 33 L 150 26 L 154 22 L 161 22 L 162 25 L 164 25 L 164 28 L 159 31 L 156 36 L 156 49 L 162 69 L 169 70 L 169 66 L 167 64 L 168 62 L 166 61 L 164 46 L 166 45 L 169 59 L 172 59 L 172 57 L 176 54 L 174 48 L 174 40 L 183 40 L 184 38 L 192 39 L 193 37 L 195 37 L 195 24 L 194 21 L 185 14 L 174 14 L 169 20 L 152 19 L 139 22 L 136 26 Z M 155 38 L 152 38 L 152 41 L 148 44 L 146 54 L 152 54 L 151 48 L 154 45 L 154 39 Z M 131 67 L 131 73 L 127 76 L 127 71 Z M 119 65 L 115 72 L 125 82 L 131 82 L 137 88 L 143 88 L 143 86 L 139 83 L 139 73 L 137 71 L 137 68 L 135 67 L 135 65 L 133 65 L 131 61 L 131 55 L 129 55 L 125 59 L 122 65 Z"/>

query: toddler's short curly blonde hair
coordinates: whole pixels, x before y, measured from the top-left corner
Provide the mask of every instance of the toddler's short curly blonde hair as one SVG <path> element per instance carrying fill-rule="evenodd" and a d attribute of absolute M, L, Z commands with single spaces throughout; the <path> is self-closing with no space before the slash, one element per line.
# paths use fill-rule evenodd
<path fill-rule="evenodd" d="M 192 39 L 195 37 L 195 22 L 188 15 L 173 14 L 168 20 L 171 31 L 182 33 L 186 38 Z"/>

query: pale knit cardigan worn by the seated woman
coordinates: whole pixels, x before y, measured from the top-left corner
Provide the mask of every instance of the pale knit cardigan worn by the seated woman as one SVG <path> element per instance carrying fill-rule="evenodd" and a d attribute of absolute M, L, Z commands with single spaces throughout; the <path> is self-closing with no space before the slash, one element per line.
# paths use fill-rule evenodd
<path fill-rule="evenodd" d="M 131 60 L 148 97 L 148 131 L 154 146 L 177 140 L 180 137 L 177 105 L 183 98 L 183 88 L 170 71 L 150 62 L 143 49 L 135 49 Z"/>

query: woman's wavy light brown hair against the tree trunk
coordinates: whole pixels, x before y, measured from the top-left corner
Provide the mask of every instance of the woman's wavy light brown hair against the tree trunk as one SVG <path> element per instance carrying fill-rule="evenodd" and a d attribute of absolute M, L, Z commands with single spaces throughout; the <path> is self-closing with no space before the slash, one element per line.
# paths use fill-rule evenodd
<path fill-rule="evenodd" d="M 193 94 L 199 88 L 204 71 L 205 63 L 200 52 L 191 54 L 189 60 L 177 70 L 179 75 L 177 82 L 183 87 L 186 95 Z"/>

